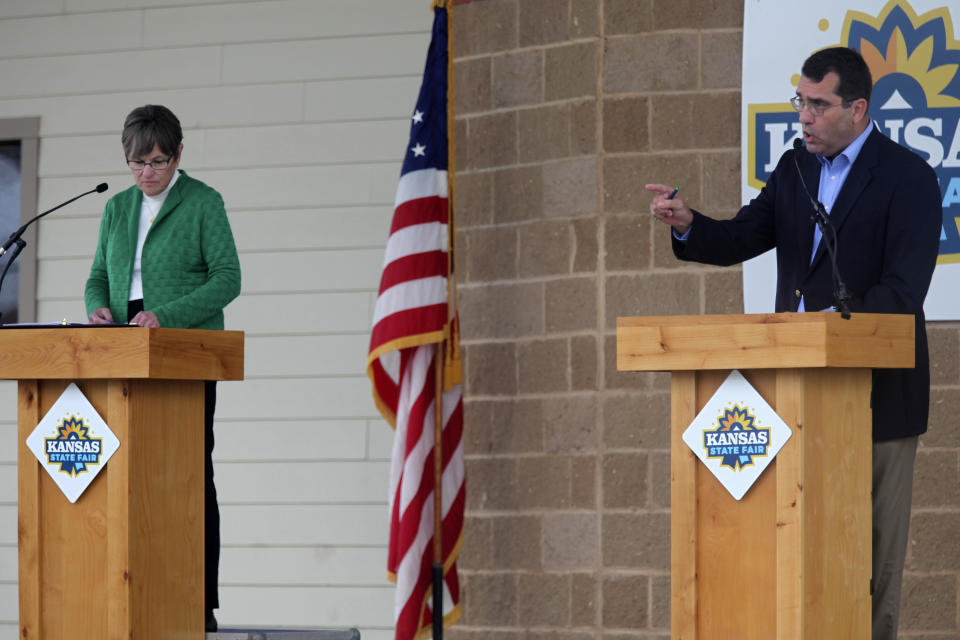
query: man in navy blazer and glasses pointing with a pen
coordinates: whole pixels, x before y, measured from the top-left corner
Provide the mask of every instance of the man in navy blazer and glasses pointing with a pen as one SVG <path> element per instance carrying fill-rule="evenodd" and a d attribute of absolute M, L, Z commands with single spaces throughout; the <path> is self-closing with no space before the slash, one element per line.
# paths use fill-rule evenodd
<path fill-rule="evenodd" d="M 923 301 L 936 265 L 942 210 L 936 174 L 877 130 L 873 82 L 859 53 L 824 49 L 803 64 L 796 96 L 804 150 L 787 151 L 732 220 L 691 210 L 660 184 L 650 213 L 673 228 L 681 260 L 732 265 L 777 250 L 776 311 L 835 301 L 830 259 L 803 182 L 837 234 L 837 263 L 854 313 L 911 313 L 916 367 L 873 373 L 873 639 L 895 639 L 910 524 L 917 436 L 927 429 L 930 372 Z M 799 172 L 795 161 L 799 163 Z M 801 180 L 800 174 L 803 178 Z"/>

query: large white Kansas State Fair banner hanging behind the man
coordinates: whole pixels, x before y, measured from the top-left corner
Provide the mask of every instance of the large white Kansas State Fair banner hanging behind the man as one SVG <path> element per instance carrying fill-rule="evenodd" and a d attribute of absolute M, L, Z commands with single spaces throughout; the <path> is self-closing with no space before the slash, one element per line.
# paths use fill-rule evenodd
<path fill-rule="evenodd" d="M 788 100 L 803 60 L 824 47 L 857 49 L 873 75 L 874 122 L 940 180 L 940 255 L 925 311 L 928 320 L 960 319 L 960 3 L 811 0 L 802 7 L 787 11 L 781 0 L 744 5 L 743 201 L 759 192 L 799 136 Z M 772 252 L 744 265 L 747 313 L 773 311 L 775 278 Z"/>

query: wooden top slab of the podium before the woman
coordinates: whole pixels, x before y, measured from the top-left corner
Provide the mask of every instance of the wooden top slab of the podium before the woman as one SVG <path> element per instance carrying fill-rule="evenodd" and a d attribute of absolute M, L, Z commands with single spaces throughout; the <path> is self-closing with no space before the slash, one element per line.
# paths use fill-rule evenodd
<path fill-rule="evenodd" d="M 0 330 L 0 379 L 242 380 L 243 332 L 146 327 Z"/>

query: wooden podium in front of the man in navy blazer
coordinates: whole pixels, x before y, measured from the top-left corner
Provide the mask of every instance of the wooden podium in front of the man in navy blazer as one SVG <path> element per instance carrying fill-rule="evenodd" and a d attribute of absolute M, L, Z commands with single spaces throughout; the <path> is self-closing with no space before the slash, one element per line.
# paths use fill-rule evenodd
<path fill-rule="evenodd" d="M 871 369 L 914 366 L 910 315 L 617 319 L 617 368 L 671 371 L 674 640 L 869 640 Z M 731 370 L 793 431 L 740 500 L 681 439 Z"/>

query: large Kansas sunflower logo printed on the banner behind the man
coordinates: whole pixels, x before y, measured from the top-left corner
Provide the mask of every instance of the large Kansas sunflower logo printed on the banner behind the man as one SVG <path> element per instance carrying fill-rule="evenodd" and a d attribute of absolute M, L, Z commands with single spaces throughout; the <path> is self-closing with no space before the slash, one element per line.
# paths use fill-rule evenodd
<path fill-rule="evenodd" d="M 892 0 L 877 16 L 848 11 L 841 43 L 870 66 L 870 115 L 879 129 L 937 173 L 943 197 L 938 264 L 960 262 L 960 42 L 953 29 L 946 6 L 918 16 L 909 2 Z M 751 104 L 747 129 L 748 182 L 761 189 L 800 134 L 799 116 L 786 102 Z"/>

